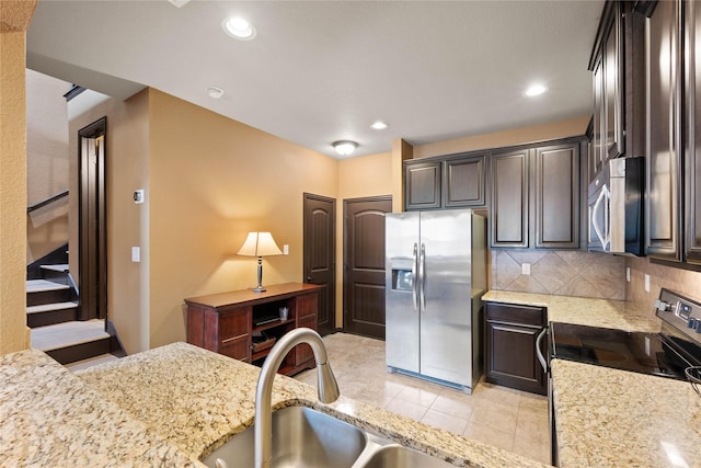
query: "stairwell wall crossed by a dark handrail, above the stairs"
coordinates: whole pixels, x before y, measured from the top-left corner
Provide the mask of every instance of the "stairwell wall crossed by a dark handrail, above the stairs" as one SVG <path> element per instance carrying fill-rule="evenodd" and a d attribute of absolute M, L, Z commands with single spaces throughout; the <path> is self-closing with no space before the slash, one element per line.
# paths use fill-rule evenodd
<path fill-rule="evenodd" d="M 26 70 L 27 204 L 68 190 L 68 109 L 70 83 Z M 26 263 L 68 242 L 68 198 L 26 217 Z"/>

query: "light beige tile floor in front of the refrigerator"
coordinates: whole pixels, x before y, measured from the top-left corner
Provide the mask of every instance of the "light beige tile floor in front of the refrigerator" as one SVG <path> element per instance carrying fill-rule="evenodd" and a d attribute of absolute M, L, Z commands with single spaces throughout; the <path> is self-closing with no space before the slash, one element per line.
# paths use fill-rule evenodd
<path fill-rule="evenodd" d="M 324 336 L 341 393 L 550 465 L 548 399 L 480 381 L 460 390 L 388 374 L 384 342 L 346 333 Z M 298 379 L 315 385 L 315 370 Z"/>

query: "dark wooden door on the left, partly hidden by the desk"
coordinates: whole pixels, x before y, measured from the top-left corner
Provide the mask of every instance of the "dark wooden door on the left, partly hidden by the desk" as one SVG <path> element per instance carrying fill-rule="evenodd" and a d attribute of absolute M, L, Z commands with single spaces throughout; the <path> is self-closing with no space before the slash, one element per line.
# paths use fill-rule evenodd
<path fill-rule="evenodd" d="M 319 292 L 317 331 L 336 328 L 336 201 L 304 194 L 304 283 L 326 286 Z"/>

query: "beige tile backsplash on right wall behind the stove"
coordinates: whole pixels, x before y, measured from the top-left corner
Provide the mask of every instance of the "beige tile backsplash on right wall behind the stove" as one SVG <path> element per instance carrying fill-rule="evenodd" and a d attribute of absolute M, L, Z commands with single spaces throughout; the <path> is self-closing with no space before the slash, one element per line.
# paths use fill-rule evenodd
<path fill-rule="evenodd" d="M 655 299 L 663 287 L 701 301 L 701 273 L 659 265 L 650 259 L 635 256 L 627 258 L 625 266 L 631 269 L 625 300 L 641 312 L 655 316 Z M 650 275 L 650 293 L 645 290 L 645 275 Z"/>

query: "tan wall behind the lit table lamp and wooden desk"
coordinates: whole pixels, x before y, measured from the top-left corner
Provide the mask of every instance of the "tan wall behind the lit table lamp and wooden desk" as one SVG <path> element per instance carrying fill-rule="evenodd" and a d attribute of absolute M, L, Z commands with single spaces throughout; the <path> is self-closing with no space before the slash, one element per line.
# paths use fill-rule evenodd
<path fill-rule="evenodd" d="M 303 193 L 335 197 L 337 161 L 150 91 L 150 346 L 185 340 L 183 299 L 255 286 L 234 253 L 269 230 L 290 254 L 263 260 L 263 284 L 302 281 Z"/>

